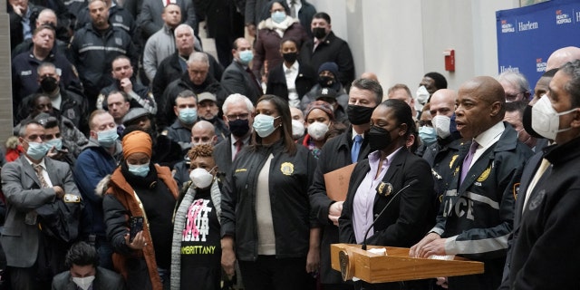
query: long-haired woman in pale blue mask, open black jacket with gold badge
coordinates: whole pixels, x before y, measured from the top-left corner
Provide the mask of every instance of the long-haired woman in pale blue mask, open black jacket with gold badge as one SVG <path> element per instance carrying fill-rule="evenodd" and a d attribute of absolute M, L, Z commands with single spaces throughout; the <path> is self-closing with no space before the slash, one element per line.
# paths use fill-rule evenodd
<path fill-rule="evenodd" d="M 315 160 L 292 139 L 288 103 L 264 95 L 256 105 L 252 145 L 238 153 L 222 195 L 222 266 L 236 258 L 244 285 L 306 289 L 320 261 L 319 229 L 310 218 L 308 188 Z"/>

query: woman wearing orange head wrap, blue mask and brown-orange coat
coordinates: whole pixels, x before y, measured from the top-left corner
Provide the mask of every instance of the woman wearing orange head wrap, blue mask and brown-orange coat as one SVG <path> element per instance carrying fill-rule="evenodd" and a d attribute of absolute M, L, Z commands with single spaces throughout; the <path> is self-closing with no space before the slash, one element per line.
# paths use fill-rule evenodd
<path fill-rule="evenodd" d="M 148 133 L 126 133 L 122 147 L 124 161 L 102 202 L 113 264 L 129 289 L 169 289 L 171 218 L 179 189 L 169 168 L 150 163 Z M 142 230 L 130 237 L 130 220 L 137 217 L 143 218 Z"/>

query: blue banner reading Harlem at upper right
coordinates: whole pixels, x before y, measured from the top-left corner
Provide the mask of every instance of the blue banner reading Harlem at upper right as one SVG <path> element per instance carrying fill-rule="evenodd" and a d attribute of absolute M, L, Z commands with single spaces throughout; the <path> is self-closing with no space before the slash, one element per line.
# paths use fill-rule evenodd
<path fill-rule="evenodd" d="M 580 2 L 552 0 L 496 12 L 498 73 L 523 73 L 534 89 L 547 58 L 565 46 L 580 47 Z"/>

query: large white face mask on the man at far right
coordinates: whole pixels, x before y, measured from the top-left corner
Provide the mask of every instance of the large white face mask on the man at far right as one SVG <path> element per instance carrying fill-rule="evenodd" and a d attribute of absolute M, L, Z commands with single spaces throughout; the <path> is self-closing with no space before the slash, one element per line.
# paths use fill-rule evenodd
<path fill-rule="evenodd" d="M 532 107 L 532 129 L 548 140 L 556 140 L 557 133 L 572 129 L 571 127 L 558 129 L 560 127 L 560 116 L 573 111 L 576 111 L 576 108 L 557 112 L 552 107 L 550 99 L 543 95 Z"/>

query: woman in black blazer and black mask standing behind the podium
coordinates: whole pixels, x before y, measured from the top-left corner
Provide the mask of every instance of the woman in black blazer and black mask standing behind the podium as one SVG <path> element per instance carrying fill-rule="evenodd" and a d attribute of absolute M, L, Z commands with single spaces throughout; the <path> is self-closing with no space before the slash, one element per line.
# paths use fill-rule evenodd
<path fill-rule="evenodd" d="M 368 133 L 371 153 L 359 161 L 351 176 L 348 194 L 339 218 L 341 243 L 362 244 L 369 231 L 368 245 L 411 247 L 424 237 L 432 224 L 427 215 L 433 180 L 427 161 L 405 146 L 416 131 L 411 108 L 399 100 L 382 102 L 373 112 Z M 397 191 L 418 179 L 408 189 Z M 377 215 L 392 199 L 381 217 Z M 413 282 L 415 284 L 417 282 Z M 418 283 L 426 285 L 425 281 Z M 408 284 L 413 288 L 413 284 Z M 399 289 L 399 284 L 364 285 L 369 289 Z"/>

